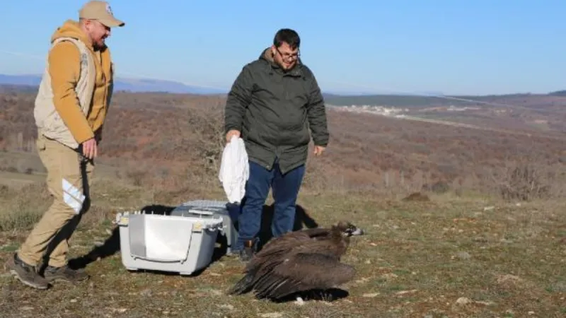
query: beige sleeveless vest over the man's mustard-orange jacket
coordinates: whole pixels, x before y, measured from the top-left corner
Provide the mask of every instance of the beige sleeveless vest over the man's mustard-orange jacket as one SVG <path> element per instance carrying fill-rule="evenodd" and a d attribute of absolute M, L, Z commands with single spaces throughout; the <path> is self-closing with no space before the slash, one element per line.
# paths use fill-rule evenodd
<path fill-rule="evenodd" d="M 52 47 L 61 41 L 73 42 L 81 53 L 81 72 L 79 82 L 76 83 L 75 93 L 79 98 L 81 110 L 86 117 L 88 111 L 91 109 L 96 81 L 96 66 L 94 64 L 93 54 L 91 54 L 90 50 L 83 42 L 72 37 L 60 37 L 53 42 Z M 79 147 L 79 143 L 76 142 L 71 131 L 69 131 L 69 128 L 63 122 L 63 119 L 61 119 L 61 116 L 59 116 L 59 113 L 55 110 L 53 105 L 53 91 L 51 88 L 48 59 L 45 64 L 45 71 L 43 71 L 39 90 L 37 91 L 37 97 L 35 98 L 33 115 L 35 117 L 35 124 L 37 125 L 37 134 L 42 134 L 47 138 L 59 141 L 71 148 L 76 149 Z"/>

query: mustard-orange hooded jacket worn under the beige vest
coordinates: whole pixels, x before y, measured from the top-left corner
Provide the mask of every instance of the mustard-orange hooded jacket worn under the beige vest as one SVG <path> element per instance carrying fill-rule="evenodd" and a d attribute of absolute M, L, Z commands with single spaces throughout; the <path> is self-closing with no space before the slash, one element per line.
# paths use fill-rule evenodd
<path fill-rule="evenodd" d="M 76 141 L 82 143 L 98 134 L 98 130 L 104 124 L 108 110 L 108 86 L 113 75 L 110 51 L 108 47 L 94 50 L 91 40 L 83 33 L 79 23 L 73 20 L 67 20 L 62 27 L 58 28 L 51 40 L 58 37 L 74 37 L 81 40 L 93 54 L 96 65 L 92 107 L 88 117 L 85 117 L 74 92 L 75 85 L 79 81 L 81 67 L 79 49 L 71 42 L 60 42 L 51 49 L 48 57 L 54 107 Z"/>

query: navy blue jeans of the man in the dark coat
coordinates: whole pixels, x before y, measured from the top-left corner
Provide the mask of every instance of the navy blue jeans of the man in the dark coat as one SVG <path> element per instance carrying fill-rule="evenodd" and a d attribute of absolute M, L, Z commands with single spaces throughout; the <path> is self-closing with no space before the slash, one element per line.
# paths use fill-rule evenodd
<path fill-rule="evenodd" d="M 282 175 L 277 161 L 271 170 L 250 161 L 250 177 L 238 216 L 238 242 L 234 250 L 242 249 L 243 242 L 256 241 L 260 232 L 262 208 L 270 189 L 275 211 L 271 231 L 274 237 L 293 230 L 296 198 L 303 182 L 305 166 L 301 165 Z"/>

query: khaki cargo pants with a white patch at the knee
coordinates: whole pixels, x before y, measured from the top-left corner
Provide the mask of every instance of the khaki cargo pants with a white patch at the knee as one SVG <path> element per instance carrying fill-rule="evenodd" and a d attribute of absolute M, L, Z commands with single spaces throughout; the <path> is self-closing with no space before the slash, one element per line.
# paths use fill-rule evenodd
<path fill-rule="evenodd" d="M 38 136 L 36 143 L 54 201 L 21 245 L 18 257 L 33 266 L 43 264 L 45 258 L 48 265 L 60 267 L 67 264 L 69 240 L 90 205 L 88 189 L 94 164 L 45 136 Z"/>

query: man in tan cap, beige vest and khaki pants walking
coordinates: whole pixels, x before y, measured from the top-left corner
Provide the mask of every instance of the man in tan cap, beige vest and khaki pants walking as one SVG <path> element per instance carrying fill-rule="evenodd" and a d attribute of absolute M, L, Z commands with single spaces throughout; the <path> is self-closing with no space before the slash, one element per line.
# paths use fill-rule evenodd
<path fill-rule="evenodd" d="M 110 28 L 123 25 L 107 2 L 89 1 L 78 22 L 65 21 L 51 37 L 34 116 L 37 152 L 54 201 L 7 264 L 33 288 L 88 279 L 83 271 L 69 268 L 68 242 L 88 210 L 94 159 L 112 96 L 114 72 L 105 39 Z M 41 273 L 44 259 L 47 266 Z"/>

